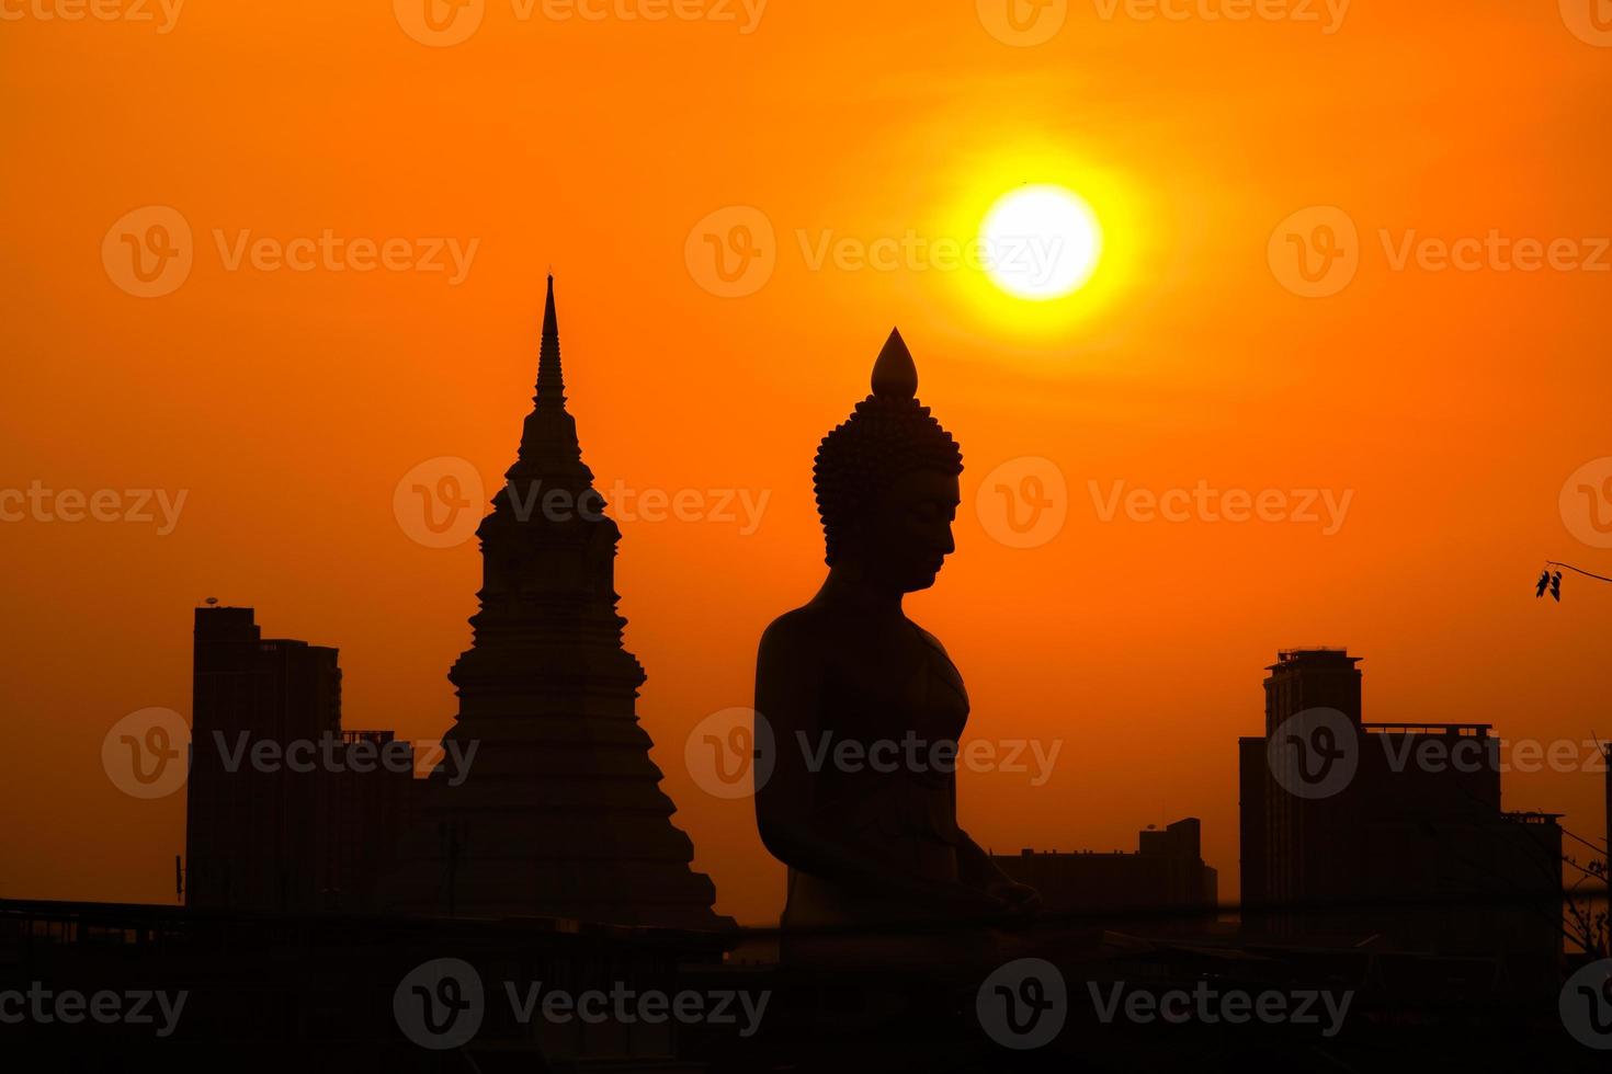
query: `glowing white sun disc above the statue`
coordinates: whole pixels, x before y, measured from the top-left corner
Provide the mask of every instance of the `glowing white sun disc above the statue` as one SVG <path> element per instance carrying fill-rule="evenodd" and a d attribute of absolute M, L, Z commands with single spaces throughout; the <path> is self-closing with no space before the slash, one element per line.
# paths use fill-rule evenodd
<path fill-rule="evenodd" d="M 1103 227 L 1074 190 L 1004 193 L 980 224 L 987 272 L 1009 295 L 1049 301 L 1080 290 L 1103 256 Z"/>

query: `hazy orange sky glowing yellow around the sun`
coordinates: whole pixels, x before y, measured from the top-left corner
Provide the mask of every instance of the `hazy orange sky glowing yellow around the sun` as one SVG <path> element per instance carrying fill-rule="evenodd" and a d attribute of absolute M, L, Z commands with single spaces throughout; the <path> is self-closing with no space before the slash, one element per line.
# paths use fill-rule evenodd
<path fill-rule="evenodd" d="M 424 459 L 488 481 L 509 464 L 550 266 L 601 488 L 771 496 L 748 535 L 627 520 L 617 562 L 664 787 L 745 921 L 777 913 L 782 871 L 748 802 L 695 786 L 683 739 L 750 704 L 761 628 L 817 585 L 812 452 L 891 324 L 967 465 L 958 556 L 911 613 L 967 678 L 970 736 L 1064 739 L 1045 786 L 962 776 L 982 844 L 1135 849 L 1145 824 L 1198 815 L 1235 897 L 1235 739 L 1259 733 L 1261 668 L 1286 646 L 1364 655 L 1367 720 L 1612 736 L 1612 586 L 1570 580 L 1560 607 L 1530 593 L 1546 557 L 1612 567 L 1559 507 L 1568 475 L 1612 454 L 1612 253 L 1594 242 L 1612 235 L 1612 50 L 1554 3 L 1356 0 L 1328 34 L 1320 3 L 1315 23 L 1077 0 L 1054 5 L 1049 40 L 1011 45 L 972 0 L 772 0 L 751 32 L 725 0 L 680 10 L 737 21 L 624 18 L 654 0 L 522 19 L 487 0 L 451 47 L 411 39 L 401 0 L 189 0 L 169 32 L 155 0 L 134 13 L 152 23 L 40 16 L 63 3 L 0 0 L 0 488 L 185 501 L 166 535 L 0 523 L 0 895 L 171 897 L 184 795 L 126 797 L 100 744 L 129 712 L 189 713 L 206 596 L 339 646 L 347 726 L 442 733 L 479 562 L 474 543 L 411 541 L 393 489 Z M 1080 190 L 1106 229 L 1098 275 L 1064 303 L 920 258 L 808 256 L 967 242 L 1025 182 Z M 189 279 L 160 298 L 102 259 L 142 206 L 193 233 Z M 685 259 L 727 206 L 775 235 L 771 279 L 742 298 Z M 1307 206 L 1359 232 L 1357 275 L 1328 298 L 1267 261 Z M 327 229 L 476 246 L 456 283 L 231 267 L 242 232 Z M 1396 269 L 1412 232 L 1572 240 L 1601 271 Z M 1069 489 L 1067 523 L 1033 549 L 974 509 L 1020 457 Z M 1091 481 L 1099 501 L 1116 481 L 1352 499 L 1330 536 L 1104 522 Z M 1506 803 L 1599 837 L 1599 781 L 1512 773 Z"/>

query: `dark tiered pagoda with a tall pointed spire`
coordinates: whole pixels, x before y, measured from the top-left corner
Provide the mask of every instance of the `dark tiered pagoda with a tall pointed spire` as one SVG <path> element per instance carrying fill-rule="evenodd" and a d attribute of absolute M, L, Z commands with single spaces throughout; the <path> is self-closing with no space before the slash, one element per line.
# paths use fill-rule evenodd
<path fill-rule="evenodd" d="M 621 530 L 582 462 L 548 277 L 537 394 L 476 535 L 480 610 L 448 680 L 459 713 L 421 789 L 387 902 L 466 918 L 553 916 L 714 929 L 635 700 L 643 667 L 616 610 Z M 476 754 L 464 773 L 455 757 Z"/>

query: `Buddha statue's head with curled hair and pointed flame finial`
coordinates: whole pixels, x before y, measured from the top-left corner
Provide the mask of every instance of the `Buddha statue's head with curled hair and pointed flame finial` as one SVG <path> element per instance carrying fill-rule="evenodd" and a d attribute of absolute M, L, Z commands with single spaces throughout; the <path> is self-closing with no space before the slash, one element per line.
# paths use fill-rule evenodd
<path fill-rule="evenodd" d="M 927 589 L 956 547 L 962 451 L 919 404 L 917 367 L 899 332 L 879 353 L 872 386 L 817 448 L 827 562 L 888 593 Z"/>

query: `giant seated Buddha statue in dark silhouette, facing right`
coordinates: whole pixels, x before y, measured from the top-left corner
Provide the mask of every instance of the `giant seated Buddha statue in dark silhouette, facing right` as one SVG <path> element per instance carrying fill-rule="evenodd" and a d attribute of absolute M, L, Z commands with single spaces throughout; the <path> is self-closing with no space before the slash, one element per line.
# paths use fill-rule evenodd
<path fill-rule="evenodd" d="M 903 926 L 1011 921 L 1040 905 L 958 828 L 969 697 L 940 641 L 901 607 L 954 551 L 962 452 L 919 404 L 899 332 L 872 388 L 817 451 L 829 576 L 774 620 L 756 667 L 775 754 L 756 821 L 788 866 L 790 960 L 906 956 Z"/>

